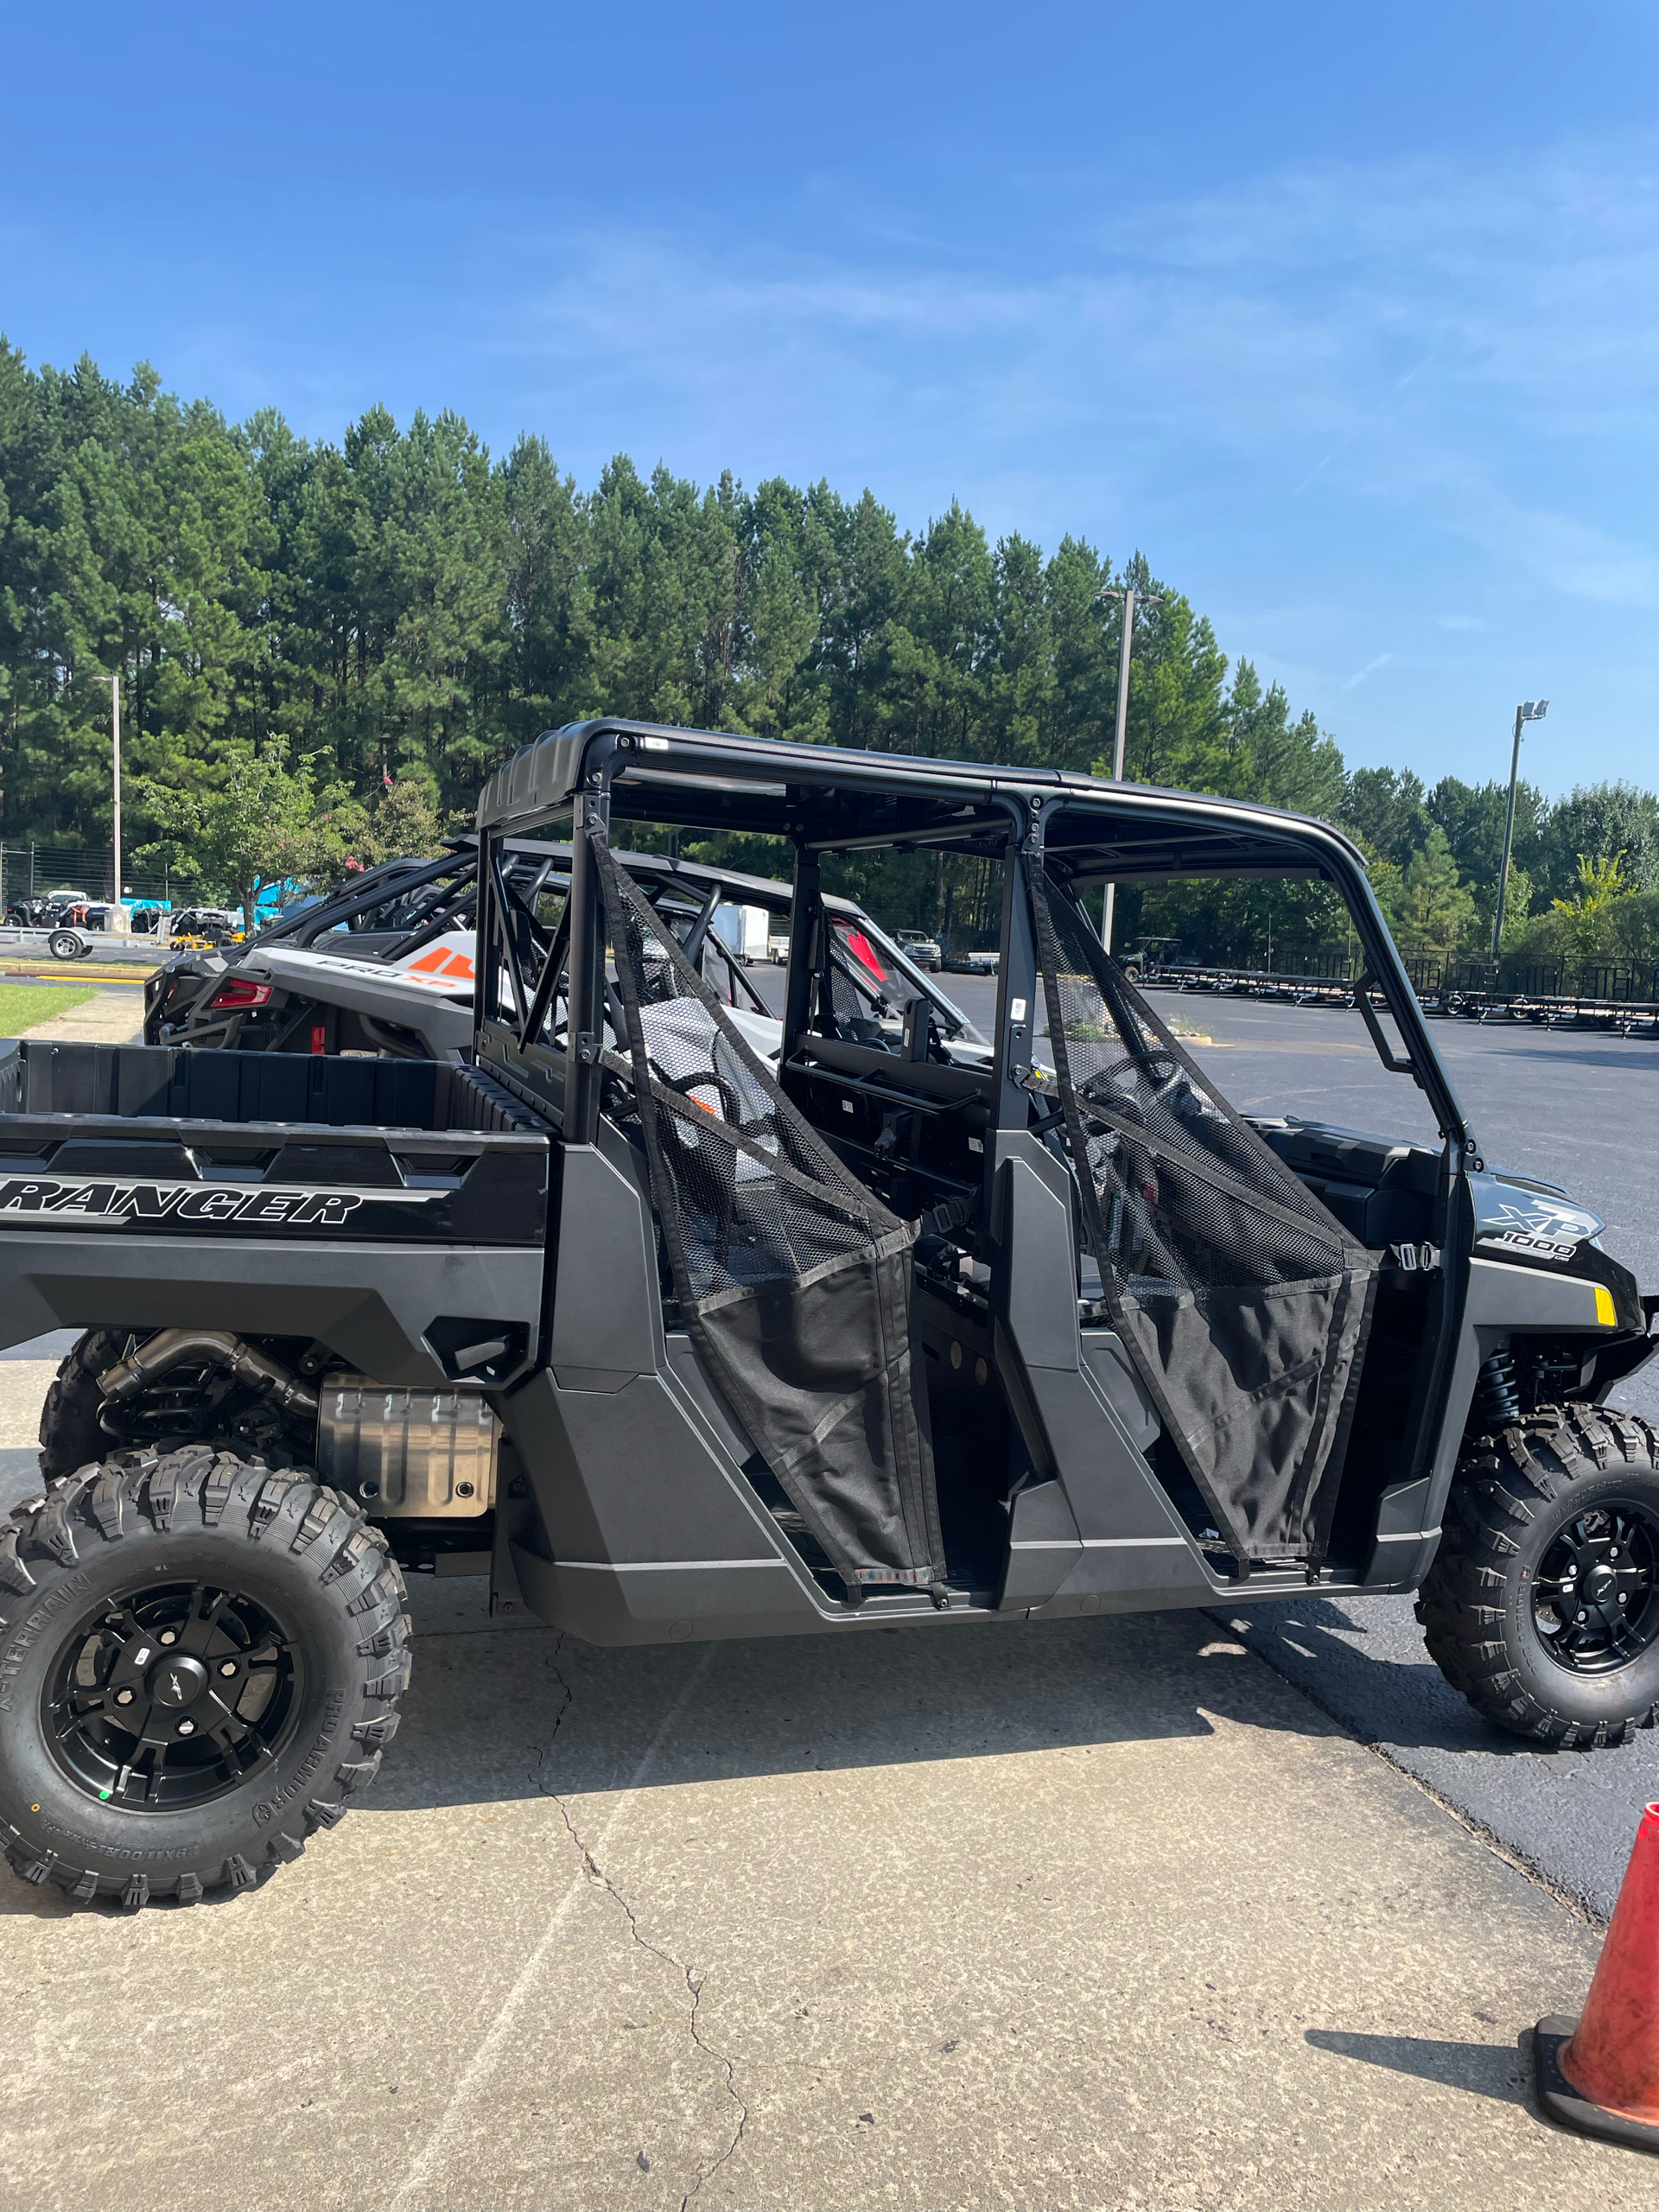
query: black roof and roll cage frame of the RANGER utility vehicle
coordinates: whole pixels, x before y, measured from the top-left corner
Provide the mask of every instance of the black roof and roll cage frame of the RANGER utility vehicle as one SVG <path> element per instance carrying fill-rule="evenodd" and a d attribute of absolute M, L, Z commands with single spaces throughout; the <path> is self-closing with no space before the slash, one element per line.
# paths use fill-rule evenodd
<path fill-rule="evenodd" d="M 487 945 L 520 951 L 526 909 L 500 880 L 504 841 L 557 814 L 571 814 L 568 975 L 571 1031 L 577 1066 L 564 1097 L 562 1055 L 544 1077 L 557 1077 L 568 1141 L 591 1144 L 597 1130 L 597 1040 L 604 1029 L 604 922 L 586 865 L 588 821 L 604 825 L 646 821 L 695 832 L 748 832 L 794 843 L 794 900 L 790 982 L 783 1018 L 783 1062 L 794 1057 L 814 1018 L 814 967 L 823 964 L 823 922 L 832 900 L 823 894 L 821 858 L 869 849 L 949 849 L 1009 858 L 1002 889 L 998 1015 L 993 1035 L 993 1126 L 1026 1128 L 1031 1093 L 1022 1075 L 1031 1064 L 1037 958 L 1031 940 L 1024 867 L 1044 858 L 1075 894 L 1115 880 L 1157 883 L 1181 876 L 1303 876 L 1323 878 L 1343 898 L 1365 951 L 1356 1000 L 1371 1042 L 1391 1073 L 1411 1075 L 1425 1093 L 1444 1139 L 1444 1177 L 1480 1168 L 1480 1146 L 1451 1079 L 1429 1040 L 1422 1009 L 1387 922 L 1376 905 L 1358 849 L 1329 823 L 1305 814 L 1155 785 L 1106 783 L 1062 770 L 1004 770 L 967 761 L 927 761 L 911 754 L 852 752 L 834 745 L 794 745 L 710 730 L 644 721 L 586 721 L 549 732 L 522 748 L 484 785 L 478 803 L 484 896 L 478 911 L 478 1051 L 507 1066 L 531 1051 L 529 1002 L 518 1004 L 511 1029 L 498 1006 L 498 960 Z M 664 860 L 684 872 L 695 863 Z M 717 872 L 708 872 L 710 876 Z M 772 891 L 774 887 L 765 887 Z M 843 902 L 834 902 L 843 905 Z M 562 936 L 566 931 L 560 931 Z M 538 969 L 553 951 L 542 942 Z M 557 947 L 566 958 L 566 947 Z M 509 964 L 513 973 L 515 964 Z M 549 978 L 549 987 L 555 978 Z M 511 989 L 522 989 L 515 980 Z M 1396 1053 L 1378 1022 L 1374 998 L 1391 1018 L 1405 1046 Z M 513 1073 L 507 1066 L 507 1073 Z M 520 1071 L 522 1073 L 522 1071 Z M 535 1102 L 551 1104 L 546 1082 Z M 987 1150 L 987 1177 L 995 1148 Z"/>

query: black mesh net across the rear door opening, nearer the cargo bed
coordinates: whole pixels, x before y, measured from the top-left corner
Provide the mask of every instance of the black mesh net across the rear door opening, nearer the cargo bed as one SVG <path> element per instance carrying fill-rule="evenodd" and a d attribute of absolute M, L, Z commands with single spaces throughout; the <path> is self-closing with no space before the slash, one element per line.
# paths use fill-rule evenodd
<path fill-rule="evenodd" d="M 626 1079 L 686 1327 L 750 1442 L 860 1597 L 942 1584 L 911 1245 L 783 1097 L 714 991 L 588 832 Z"/>

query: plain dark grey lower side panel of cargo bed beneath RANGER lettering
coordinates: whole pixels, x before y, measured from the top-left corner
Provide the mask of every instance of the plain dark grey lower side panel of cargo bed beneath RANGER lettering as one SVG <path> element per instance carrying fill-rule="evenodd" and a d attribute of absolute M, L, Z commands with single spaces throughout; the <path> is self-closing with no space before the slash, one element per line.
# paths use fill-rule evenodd
<path fill-rule="evenodd" d="M 467 1245 L 321 1245 L 232 1237 L 82 1239 L 7 1223 L 0 1343 L 46 1329 L 237 1329 L 321 1336 L 376 1383 L 449 1378 L 422 1336 L 434 1321 L 520 1323 L 531 1354 L 542 1254 Z"/>

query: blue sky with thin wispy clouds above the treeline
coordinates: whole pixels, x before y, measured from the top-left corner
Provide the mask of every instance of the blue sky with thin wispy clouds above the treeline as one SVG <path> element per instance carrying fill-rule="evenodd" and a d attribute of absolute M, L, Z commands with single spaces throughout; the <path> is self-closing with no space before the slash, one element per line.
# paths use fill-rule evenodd
<path fill-rule="evenodd" d="M 1659 783 L 1659 9 L 15 11 L 0 325 L 1137 546 L 1354 763 Z"/>

